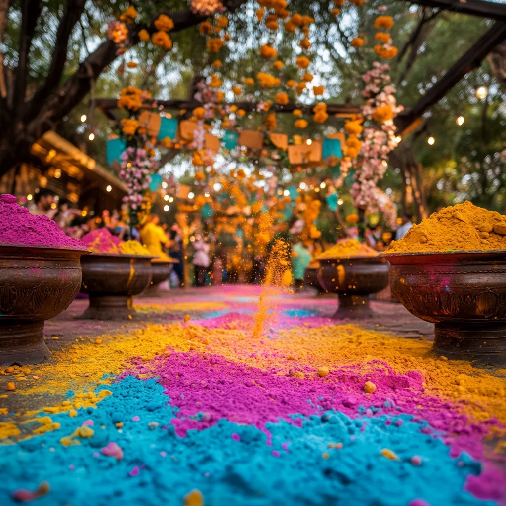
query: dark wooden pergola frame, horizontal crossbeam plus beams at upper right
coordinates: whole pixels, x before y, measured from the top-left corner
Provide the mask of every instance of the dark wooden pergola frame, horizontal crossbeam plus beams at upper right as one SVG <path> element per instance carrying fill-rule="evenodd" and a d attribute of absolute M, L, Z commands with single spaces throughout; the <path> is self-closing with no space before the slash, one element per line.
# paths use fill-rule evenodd
<path fill-rule="evenodd" d="M 495 20 L 476 43 L 469 48 L 435 83 L 435 85 L 416 103 L 408 106 L 395 119 L 401 135 L 411 133 L 421 123 L 421 115 L 443 98 L 456 83 L 474 68 L 480 66 L 482 60 L 499 44 L 506 40 L 506 4 L 487 2 L 485 0 L 400 0 L 433 9 L 446 10 L 471 16 L 479 16 Z M 109 118 L 118 119 L 114 109 L 117 108 L 115 99 L 97 99 L 95 106 L 102 110 Z M 194 100 L 157 100 L 156 103 L 164 109 L 192 110 L 200 102 Z M 145 107 L 152 102 L 147 101 Z M 229 104 L 232 105 L 232 104 Z M 256 110 L 258 104 L 254 102 L 234 102 L 237 108 L 246 111 Z M 274 107 L 275 105 L 275 107 Z M 286 105 L 273 104 L 273 110 L 280 113 L 291 113 L 293 109 L 303 109 L 311 113 L 315 104 L 303 105 L 289 103 Z M 360 112 L 360 106 L 354 104 L 327 104 L 327 112 L 342 117 L 349 117 Z"/>

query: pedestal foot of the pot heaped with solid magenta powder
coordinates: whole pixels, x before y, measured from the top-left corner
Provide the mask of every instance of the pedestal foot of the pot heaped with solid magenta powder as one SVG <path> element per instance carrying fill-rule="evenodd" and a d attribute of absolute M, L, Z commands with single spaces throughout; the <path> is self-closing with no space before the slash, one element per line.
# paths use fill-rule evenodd
<path fill-rule="evenodd" d="M 50 357 L 44 322 L 0 326 L 0 366 L 39 364 Z"/>

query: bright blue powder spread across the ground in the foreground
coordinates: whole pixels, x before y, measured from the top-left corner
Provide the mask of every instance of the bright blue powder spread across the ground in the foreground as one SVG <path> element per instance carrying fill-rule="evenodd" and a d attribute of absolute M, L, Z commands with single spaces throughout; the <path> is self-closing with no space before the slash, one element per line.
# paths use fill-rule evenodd
<path fill-rule="evenodd" d="M 96 409 L 82 408 L 74 418 L 54 415 L 60 430 L 2 447 L 0 504 L 15 504 L 13 490 L 34 490 L 44 480 L 51 491 L 37 506 L 180 506 L 193 488 L 201 490 L 206 506 L 399 506 L 415 498 L 432 506 L 494 504 L 463 491 L 466 476 L 478 474 L 480 463 L 465 455 L 450 458 L 440 439 L 419 433 L 406 415 L 401 427 L 385 425 L 386 416 L 352 420 L 339 412 L 305 418 L 302 428 L 268 424 L 272 446 L 262 431 L 226 419 L 181 439 L 170 425 L 177 408 L 168 405 L 155 379 L 128 376 L 110 390 L 113 395 Z M 94 420 L 94 436 L 62 446 L 60 439 L 87 419 Z M 121 432 L 114 426 L 118 420 Z M 122 448 L 122 460 L 100 453 L 109 442 Z M 399 460 L 382 456 L 383 448 Z M 420 466 L 410 463 L 413 455 L 421 457 Z M 130 476 L 134 467 L 139 474 Z"/>

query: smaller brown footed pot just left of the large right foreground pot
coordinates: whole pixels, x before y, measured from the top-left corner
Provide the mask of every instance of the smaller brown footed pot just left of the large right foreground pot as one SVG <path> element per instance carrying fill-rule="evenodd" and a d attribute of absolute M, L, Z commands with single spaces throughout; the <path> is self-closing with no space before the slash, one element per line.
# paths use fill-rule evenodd
<path fill-rule="evenodd" d="M 337 293 L 334 318 L 370 318 L 369 294 L 388 285 L 388 261 L 381 257 L 318 260 L 318 281 L 325 291 Z"/>

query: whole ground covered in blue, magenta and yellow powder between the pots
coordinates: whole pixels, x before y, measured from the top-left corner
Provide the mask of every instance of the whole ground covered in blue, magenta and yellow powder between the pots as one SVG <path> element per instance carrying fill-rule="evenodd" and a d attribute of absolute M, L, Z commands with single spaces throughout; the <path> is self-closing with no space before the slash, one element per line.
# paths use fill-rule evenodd
<path fill-rule="evenodd" d="M 139 299 L 2 370 L 0 504 L 504 503 L 505 371 L 266 290 Z"/>

